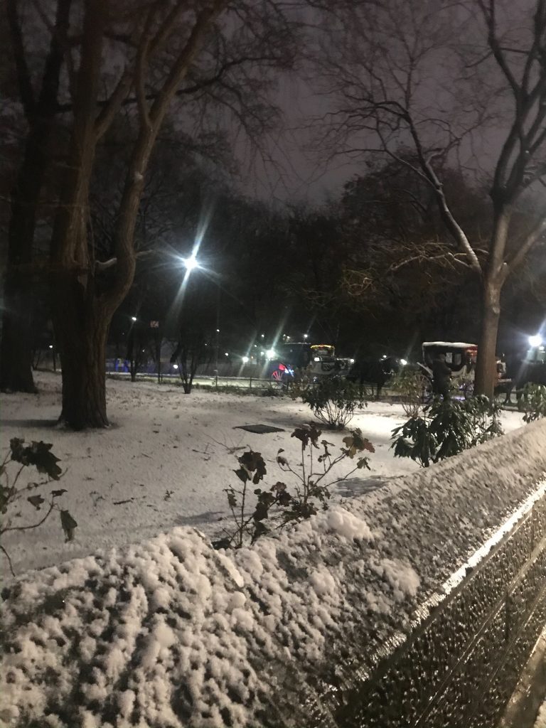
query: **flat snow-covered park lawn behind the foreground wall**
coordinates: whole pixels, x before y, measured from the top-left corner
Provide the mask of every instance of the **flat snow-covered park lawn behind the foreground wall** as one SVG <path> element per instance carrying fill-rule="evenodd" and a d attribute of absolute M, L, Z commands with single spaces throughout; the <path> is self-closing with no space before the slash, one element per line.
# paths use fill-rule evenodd
<path fill-rule="evenodd" d="M 284 448 L 285 456 L 297 464 L 300 443 L 290 433 L 314 419 L 306 405 L 288 397 L 203 389 L 188 396 L 173 384 L 108 381 L 111 427 L 69 432 L 55 424 L 60 377 L 38 373 L 36 380 L 39 395 L 3 395 L 0 447 L 7 451 L 13 437 L 53 444 L 66 470 L 56 486 L 67 490 L 60 505 L 76 518 L 78 528 L 74 541 L 64 543 L 57 514 L 52 514 L 35 531 L 7 534 L 10 538 L 4 543 L 16 573 L 82 557 L 97 548 L 141 542 L 175 526 L 221 534 L 221 519 L 228 513 L 223 488 L 237 484 L 235 454 L 245 446 L 260 451 L 268 463 L 265 482 L 272 484 L 280 475 L 278 449 Z M 375 402 L 355 416 L 351 425 L 361 428 L 376 452 L 371 471 L 359 471 L 339 483 L 333 488 L 334 498 L 364 494 L 418 468 L 409 460 L 395 459 L 389 449 L 392 429 L 404 419 L 400 405 Z M 234 429 L 244 424 L 269 424 L 285 431 L 256 435 Z M 522 424 L 521 415 L 505 413 L 503 424 L 507 432 L 514 430 Z M 338 448 L 344 433 L 328 432 L 326 437 Z M 347 464 L 347 470 L 352 465 Z M 27 518 L 36 518 L 36 511 L 25 504 L 20 522 Z M 3 574 L 5 567 L 2 562 Z"/>

